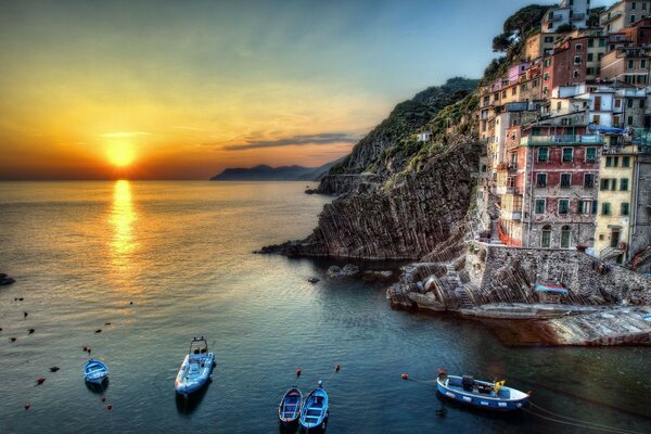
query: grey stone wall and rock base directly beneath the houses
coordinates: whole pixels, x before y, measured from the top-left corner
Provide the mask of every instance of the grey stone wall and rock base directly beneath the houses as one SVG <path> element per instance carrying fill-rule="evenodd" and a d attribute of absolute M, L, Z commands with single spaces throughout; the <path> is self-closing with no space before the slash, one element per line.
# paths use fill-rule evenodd
<path fill-rule="evenodd" d="M 480 291 L 486 297 L 500 289 L 506 291 L 523 289 L 508 288 L 512 284 L 505 281 L 505 272 L 511 271 L 522 277 L 519 282 L 521 286 L 523 283 L 563 285 L 570 290 L 570 298 L 573 303 L 651 304 L 651 277 L 612 265 L 608 271 L 600 271 L 601 263 L 582 252 L 509 248 L 480 243 L 475 246 L 476 252 L 467 255 L 467 267 L 475 270 L 475 279 L 478 279 L 478 272 L 483 271 Z M 476 267 L 481 263 L 483 263 L 483 270 Z"/>

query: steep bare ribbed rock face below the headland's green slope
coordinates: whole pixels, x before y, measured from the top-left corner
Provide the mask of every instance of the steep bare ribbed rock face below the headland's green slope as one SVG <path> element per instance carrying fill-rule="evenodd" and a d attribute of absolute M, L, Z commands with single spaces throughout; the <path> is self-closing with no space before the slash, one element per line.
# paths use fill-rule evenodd
<path fill-rule="evenodd" d="M 482 145 L 464 142 L 433 156 L 392 186 L 360 184 L 327 205 L 315 232 L 288 246 L 297 256 L 417 259 L 449 238 L 470 205 Z"/>

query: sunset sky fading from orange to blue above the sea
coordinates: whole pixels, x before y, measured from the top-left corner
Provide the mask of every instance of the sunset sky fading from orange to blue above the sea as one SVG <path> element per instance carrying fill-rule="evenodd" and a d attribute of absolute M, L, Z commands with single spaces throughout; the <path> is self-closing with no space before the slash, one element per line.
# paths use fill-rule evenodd
<path fill-rule="evenodd" d="M 528 3 L 0 1 L 0 179 L 318 166 L 418 91 L 481 77 Z"/>

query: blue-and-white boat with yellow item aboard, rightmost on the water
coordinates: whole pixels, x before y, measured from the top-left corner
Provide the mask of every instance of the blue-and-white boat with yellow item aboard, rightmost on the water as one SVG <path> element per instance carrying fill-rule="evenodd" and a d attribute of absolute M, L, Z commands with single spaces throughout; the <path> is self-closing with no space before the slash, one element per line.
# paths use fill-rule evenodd
<path fill-rule="evenodd" d="M 476 408 L 497 411 L 518 410 L 524 406 L 529 395 L 506 387 L 503 381 L 486 382 L 470 375 L 456 376 L 439 373 L 436 388 L 448 399 Z"/>

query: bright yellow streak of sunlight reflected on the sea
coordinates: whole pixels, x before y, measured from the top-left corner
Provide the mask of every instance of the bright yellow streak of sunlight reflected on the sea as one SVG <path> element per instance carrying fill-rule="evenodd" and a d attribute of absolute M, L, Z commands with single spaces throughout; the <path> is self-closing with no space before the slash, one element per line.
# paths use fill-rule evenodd
<path fill-rule="evenodd" d="M 113 188 L 113 208 L 111 210 L 111 225 L 113 226 L 113 240 L 111 252 L 113 263 L 119 267 L 128 267 L 130 254 L 138 243 L 133 239 L 133 222 L 138 215 L 131 200 L 131 186 L 129 181 L 119 180 Z"/>

